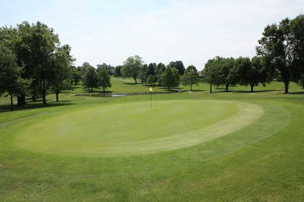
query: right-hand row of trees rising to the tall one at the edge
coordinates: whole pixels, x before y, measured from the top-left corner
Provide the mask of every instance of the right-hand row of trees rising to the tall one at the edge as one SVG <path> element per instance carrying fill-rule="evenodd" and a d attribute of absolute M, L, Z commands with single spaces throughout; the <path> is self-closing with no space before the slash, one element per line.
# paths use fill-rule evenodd
<path fill-rule="evenodd" d="M 278 25 L 268 25 L 258 41 L 257 55 L 253 58 L 214 57 L 207 61 L 202 73 L 212 85 L 254 86 L 281 80 L 285 93 L 291 81 L 304 88 L 304 15 L 290 20 L 283 19 Z"/>

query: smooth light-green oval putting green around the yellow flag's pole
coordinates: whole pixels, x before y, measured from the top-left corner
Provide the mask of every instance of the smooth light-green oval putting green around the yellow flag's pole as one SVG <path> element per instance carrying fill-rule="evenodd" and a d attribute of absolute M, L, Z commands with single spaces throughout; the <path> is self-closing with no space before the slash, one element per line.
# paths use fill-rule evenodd
<path fill-rule="evenodd" d="M 70 156 L 128 156 L 174 150 L 240 130 L 258 105 L 214 100 L 111 104 L 72 111 L 25 128 L 17 146 Z"/>

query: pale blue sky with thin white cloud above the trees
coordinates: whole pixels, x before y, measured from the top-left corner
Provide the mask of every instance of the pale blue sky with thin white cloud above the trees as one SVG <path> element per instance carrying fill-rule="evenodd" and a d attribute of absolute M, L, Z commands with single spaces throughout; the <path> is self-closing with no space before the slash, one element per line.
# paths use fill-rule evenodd
<path fill-rule="evenodd" d="M 121 65 L 139 55 L 145 63 L 182 60 L 201 70 L 208 59 L 253 57 L 268 24 L 304 14 L 303 0 L 256 1 L 17 1 L 1 0 L 0 26 L 40 21 L 75 65 Z"/>

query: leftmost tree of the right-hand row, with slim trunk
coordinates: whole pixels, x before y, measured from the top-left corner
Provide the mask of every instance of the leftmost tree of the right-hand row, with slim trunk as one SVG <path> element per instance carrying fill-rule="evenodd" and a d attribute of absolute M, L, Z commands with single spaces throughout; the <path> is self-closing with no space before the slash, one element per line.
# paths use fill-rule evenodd
<path fill-rule="evenodd" d="M 205 75 L 204 80 L 210 85 L 210 93 L 212 93 L 212 85 L 221 85 L 223 83 L 223 75 L 221 72 L 222 58 L 216 56 L 209 59 L 203 69 Z"/>

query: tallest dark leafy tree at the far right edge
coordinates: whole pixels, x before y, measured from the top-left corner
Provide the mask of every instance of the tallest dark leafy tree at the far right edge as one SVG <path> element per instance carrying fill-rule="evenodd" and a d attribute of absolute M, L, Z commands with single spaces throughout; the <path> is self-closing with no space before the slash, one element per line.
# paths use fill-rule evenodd
<path fill-rule="evenodd" d="M 304 61 L 304 15 L 268 25 L 258 41 L 257 54 L 263 56 L 272 72 L 280 74 L 288 93 L 290 81 L 300 79 Z"/>

